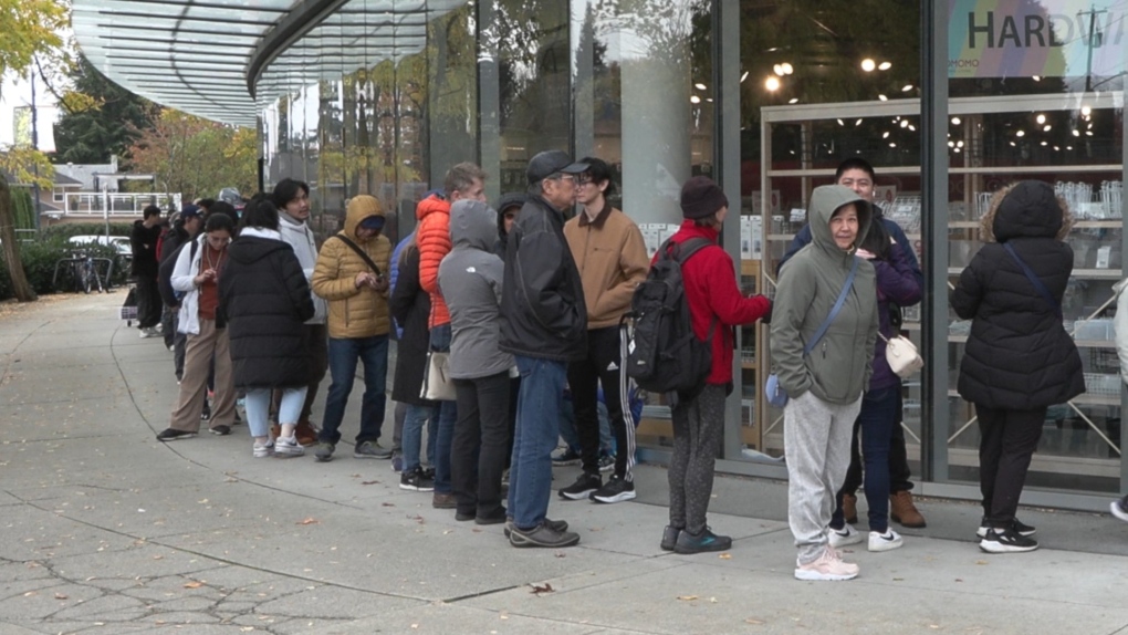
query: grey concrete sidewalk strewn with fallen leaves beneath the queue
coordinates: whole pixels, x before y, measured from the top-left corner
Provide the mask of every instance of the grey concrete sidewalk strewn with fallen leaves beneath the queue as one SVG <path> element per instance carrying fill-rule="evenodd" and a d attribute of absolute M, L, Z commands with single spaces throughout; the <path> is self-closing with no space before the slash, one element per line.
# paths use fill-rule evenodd
<path fill-rule="evenodd" d="M 786 484 L 717 478 L 726 554 L 658 548 L 654 466 L 635 502 L 554 496 L 579 547 L 514 549 L 347 448 L 255 460 L 245 426 L 160 443 L 170 353 L 115 318 L 123 299 L 0 314 L 2 635 L 1128 633 L 1128 526 L 1108 515 L 1022 510 L 1042 549 L 989 556 L 975 505 L 926 501 L 902 549 L 854 549 L 860 579 L 813 583 L 792 577 Z"/>

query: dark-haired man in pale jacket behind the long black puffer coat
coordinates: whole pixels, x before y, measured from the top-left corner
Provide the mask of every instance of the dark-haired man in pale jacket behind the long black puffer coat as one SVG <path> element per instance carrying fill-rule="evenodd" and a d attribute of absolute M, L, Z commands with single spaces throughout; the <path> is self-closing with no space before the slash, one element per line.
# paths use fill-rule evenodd
<path fill-rule="evenodd" d="M 301 271 L 306 274 L 306 281 L 309 282 L 317 265 L 317 237 L 309 227 L 309 185 L 292 178 L 283 178 L 274 186 L 271 200 L 280 212 L 279 231 L 282 240 L 293 248 L 298 263 L 301 264 Z M 294 432 L 302 446 L 312 446 L 317 442 L 317 431 L 309 417 L 314 412 L 317 389 L 329 368 L 329 337 L 325 326 L 328 307 L 317 294 L 310 293 L 310 298 L 314 302 L 314 315 L 306 323 L 307 333 L 302 339 L 309 347 L 309 381 L 306 385 L 306 400 L 301 405 Z"/>

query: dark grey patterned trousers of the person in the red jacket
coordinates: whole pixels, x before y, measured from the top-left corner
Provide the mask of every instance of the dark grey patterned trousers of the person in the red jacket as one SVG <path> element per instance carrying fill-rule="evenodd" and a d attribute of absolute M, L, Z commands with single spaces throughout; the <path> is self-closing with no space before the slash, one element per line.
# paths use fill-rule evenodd
<path fill-rule="evenodd" d="M 705 529 L 713 495 L 713 467 L 724 431 L 724 386 L 707 383 L 696 399 L 678 404 L 671 413 L 670 527 L 695 536 Z"/>

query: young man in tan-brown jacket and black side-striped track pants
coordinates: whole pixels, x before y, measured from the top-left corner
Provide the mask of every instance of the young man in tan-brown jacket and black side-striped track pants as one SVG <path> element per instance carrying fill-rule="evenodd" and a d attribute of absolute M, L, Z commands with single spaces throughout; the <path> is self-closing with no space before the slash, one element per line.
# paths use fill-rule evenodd
<path fill-rule="evenodd" d="M 583 210 L 564 224 L 564 237 L 580 270 L 588 306 L 588 354 L 567 369 L 583 474 L 559 495 L 572 501 L 590 497 L 599 503 L 618 503 L 635 497 L 631 474 L 634 422 L 626 422 L 631 406 L 622 369 L 626 342 L 619 336 L 619 321 L 631 310 L 635 286 L 646 277 L 650 258 L 638 226 L 607 202 L 615 188 L 610 167 L 593 158 L 581 162 L 588 164 L 576 186 L 576 201 Z M 617 448 L 615 474 L 607 485 L 599 476 L 600 385 Z"/>

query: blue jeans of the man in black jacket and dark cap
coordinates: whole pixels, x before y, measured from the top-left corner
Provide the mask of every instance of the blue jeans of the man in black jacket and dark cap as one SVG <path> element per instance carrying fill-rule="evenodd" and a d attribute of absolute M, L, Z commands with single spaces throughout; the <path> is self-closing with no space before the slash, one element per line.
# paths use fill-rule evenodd
<path fill-rule="evenodd" d="M 517 355 L 521 390 L 509 470 L 509 511 L 518 529 L 540 524 L 553 493 L 553 450 L 559 436 L 567 364 Z"/>

